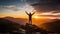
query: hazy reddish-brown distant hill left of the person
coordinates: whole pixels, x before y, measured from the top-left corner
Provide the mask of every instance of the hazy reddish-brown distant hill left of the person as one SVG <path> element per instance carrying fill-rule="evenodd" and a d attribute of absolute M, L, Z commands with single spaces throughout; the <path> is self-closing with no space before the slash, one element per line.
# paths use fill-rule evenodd
<path fill-rule="evenodd" d="M 20 25 L 25 25 L 27 23 L 27 19 L 24 19 L 24 18 L 5 17 L 4 19 L 10 20 L 10 21 L 15 22 L 15 23 L 18 23 Z"/>

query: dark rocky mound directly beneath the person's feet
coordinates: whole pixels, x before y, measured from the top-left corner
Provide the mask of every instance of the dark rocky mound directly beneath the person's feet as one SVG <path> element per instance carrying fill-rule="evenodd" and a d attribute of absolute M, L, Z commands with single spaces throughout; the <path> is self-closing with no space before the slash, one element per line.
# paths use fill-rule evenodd
<path fill-rule="evenodd" d="M 26 24 L 25 29 L 27 30 L 26 34 L 35 34 L 36 32 L 39 32 L 40 34 L 47 34 L 47 31 L 32 24 Z"/>

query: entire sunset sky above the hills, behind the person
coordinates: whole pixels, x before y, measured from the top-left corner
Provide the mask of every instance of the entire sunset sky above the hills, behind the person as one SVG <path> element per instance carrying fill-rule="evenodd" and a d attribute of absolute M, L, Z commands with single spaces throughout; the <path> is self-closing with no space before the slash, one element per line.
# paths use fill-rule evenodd
<path fill-rule="evenodd" d="M 0 0 L 0 17 L 27 18 L 25 11 L 35 12 L 33 18 L 60 19 L 59 0 Z"/>

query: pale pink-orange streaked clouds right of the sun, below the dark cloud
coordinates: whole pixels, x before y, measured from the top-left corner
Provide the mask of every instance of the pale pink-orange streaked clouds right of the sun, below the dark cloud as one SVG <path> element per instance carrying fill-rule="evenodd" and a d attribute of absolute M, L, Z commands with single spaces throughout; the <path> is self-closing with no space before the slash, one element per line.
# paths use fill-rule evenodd
<path fill-rule="evenodd" d="M 38 14 L 38 16 L 44 19 L 60 19 L 60 13 L 54 13 L 54 12 L 42 12 Z"/>

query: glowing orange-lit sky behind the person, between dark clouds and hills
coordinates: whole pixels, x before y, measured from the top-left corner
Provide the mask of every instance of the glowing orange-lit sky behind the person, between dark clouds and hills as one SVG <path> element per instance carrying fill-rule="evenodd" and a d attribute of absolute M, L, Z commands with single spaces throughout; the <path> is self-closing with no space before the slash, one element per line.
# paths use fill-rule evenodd
<path fill-rule="evenodd" d="M 30 5 L 25 5 L 23 7 L 16 7 L 13 5 L 10 6 L 4 6 L 5 8 L 3 8 L 3 10 L 0 10 L 0 18 L 1 17 L 14 17 L 14 18 L 27 18 L 28 19 L 28 15 L 25 13 L 25 11 L 27 12 L 35 12 L 35 14 L 32 16 L 33 18 L 33 24 L 36 25 L 41 25 L 45 22 L 51 22 L 52 19 L 60 19 L 60 13 L 53 13 L 53 12 L 38 12 L 37 10 L 35 10 L 32 6 Z M 17 8 L 16 10 L 13 10 L 12 8 Z"/>

